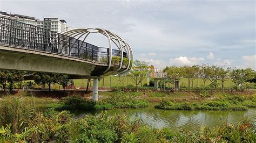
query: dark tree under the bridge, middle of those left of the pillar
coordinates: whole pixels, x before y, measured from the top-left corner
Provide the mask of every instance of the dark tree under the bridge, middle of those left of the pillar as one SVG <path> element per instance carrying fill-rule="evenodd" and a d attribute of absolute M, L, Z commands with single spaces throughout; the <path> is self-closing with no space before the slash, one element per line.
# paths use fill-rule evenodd
<path fill-rule="evenodd" d="M 49 86 L 49 91 L 51 91 L 51 84 L 55 84 L 57 82 L 57 74 L 33 73 L 33 80 L 38 85 L 46 83 Z"/>

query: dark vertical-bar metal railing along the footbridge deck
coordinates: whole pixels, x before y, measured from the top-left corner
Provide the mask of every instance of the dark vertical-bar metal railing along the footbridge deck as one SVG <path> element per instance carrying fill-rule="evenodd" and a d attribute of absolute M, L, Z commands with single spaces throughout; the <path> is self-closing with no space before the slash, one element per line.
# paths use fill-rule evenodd
<path fill-rule="evenodd" d="M 109 48 L 97 47 L 64 34 L 3 17 L 0 17 L 0 44 L 68 55 L 100 63 L 108 63 L 110 57 Z M 119 50 L 112 49 L 112 55 L 121 56 L 121 53 Z M 125 52 L 124 57 L 126 57 Z"/>

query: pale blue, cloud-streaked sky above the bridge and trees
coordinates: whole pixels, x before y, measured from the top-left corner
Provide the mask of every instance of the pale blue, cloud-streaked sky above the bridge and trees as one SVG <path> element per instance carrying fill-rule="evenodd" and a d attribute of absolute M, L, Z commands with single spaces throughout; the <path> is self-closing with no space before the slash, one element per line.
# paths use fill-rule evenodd
<path fill-rule="evenodd" d="M 156 68 L 205 63 L 256 70 L 255 9 L 255 1 L 244 0 L 0 0 L 0 11 L 113 31 L 131 45 L 134 59 Z M 108 46 L 100 35 L 87 42 Z"/>

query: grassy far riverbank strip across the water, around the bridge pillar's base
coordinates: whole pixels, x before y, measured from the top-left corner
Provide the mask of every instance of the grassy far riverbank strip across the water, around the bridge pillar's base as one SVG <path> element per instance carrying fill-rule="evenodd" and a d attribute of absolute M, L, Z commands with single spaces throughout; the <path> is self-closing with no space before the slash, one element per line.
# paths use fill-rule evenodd
<path fill-rule="evenodd" d="M 99 92 L 98 103 L 91 100 L 91 92 L 70 91 L 69 96 L 59 96 L 57 91 L 21 91 L 14 96 L 36 97 L 38 105 L 56 110 L 109 110 L 114 108 L 144 108 L 158 103 L 156 108 L 166 110 L 247 110 L 256 107 L 256 92 Z M 48 94 L 49 93 L 49 94 Z M 44 103 L 41 103 L 44 102 Z"/>

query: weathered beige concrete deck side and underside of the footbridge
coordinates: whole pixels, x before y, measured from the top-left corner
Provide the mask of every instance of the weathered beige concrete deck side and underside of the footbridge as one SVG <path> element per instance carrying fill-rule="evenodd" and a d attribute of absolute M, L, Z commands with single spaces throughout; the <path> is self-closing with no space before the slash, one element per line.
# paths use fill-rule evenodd
<path fill-rule="evenodd" d="M 107 64 L 1 44 L 0 67 L 10 70 L 68 74 L 72 79 L 99 78 L 111 75 L 112 71 L 118 69 L 113 65 L 107 73 L 103 74 Z"/>

